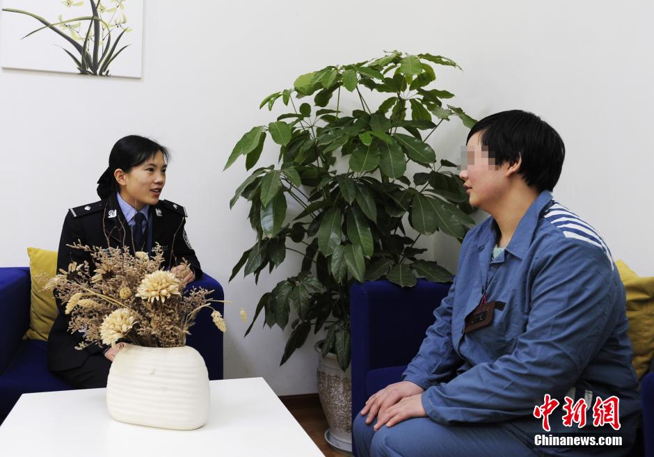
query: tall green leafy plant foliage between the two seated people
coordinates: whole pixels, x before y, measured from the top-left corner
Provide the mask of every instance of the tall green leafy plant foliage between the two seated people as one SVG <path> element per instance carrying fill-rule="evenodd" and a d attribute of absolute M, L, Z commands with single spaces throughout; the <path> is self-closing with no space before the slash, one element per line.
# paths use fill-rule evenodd
<path fill-rule="evenodd" d="M 272 110 L 281 101 L 289 112 L 253 127 L 234 146 L 225 169 L 245 156 L 251 171 L 230 207 L 239 198 L 248 200 L 256 240 L 230 280 L 241 268 L 258 280 L 264 268 L 280 266 L 289 251 L 302 257 L 297 275 L 263 294 L 246 332 L 262 313 L 264 325 L 290 325 L 281 364 L 309 332 L 324 330 L 322 355 L 334 353 L 342 370 L 349 367 L 354 281 L 387 278 L 410 287 L 417 276 L 451 280 L 445 268 L 420 259 L 424 249 L 414 246 L 437 230 L 462 240 L 473 225 L 472 208 L 456 165 L 439 161 L 429 140 L 452 117 L 467 127 L 475 121 L 445 103 L 452 93 L 430 88 L 436 80 L 433 65 L 458 67 L 442 56 L 393 51 L 303 74 L 293 88 L 260 104 Z M 370 93 L 382 95 L 383 102 L 373 106 Z M 310 102 L 301 102 L 308 97 Z M 353 97 L 357 109 L 344 112 L 346 97 Z M 280 148 L 278 164 L 255 168 L 269 136 Z M 408 162 L 421 168 L 411 173 Z M 291 200 L 301 207 L 299 214 L 287 213 Z M 408 236 L 406 222 L 417 235 Z"/>

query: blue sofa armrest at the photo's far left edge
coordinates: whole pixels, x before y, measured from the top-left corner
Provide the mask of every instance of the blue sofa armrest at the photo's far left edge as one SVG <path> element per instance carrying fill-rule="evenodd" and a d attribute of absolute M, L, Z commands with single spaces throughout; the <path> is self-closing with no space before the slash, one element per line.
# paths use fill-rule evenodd
<path fill-rule="evenodd" d="M 0 268 L 0 373 L 29 328 L 30 287 L 29 268 Z"/>

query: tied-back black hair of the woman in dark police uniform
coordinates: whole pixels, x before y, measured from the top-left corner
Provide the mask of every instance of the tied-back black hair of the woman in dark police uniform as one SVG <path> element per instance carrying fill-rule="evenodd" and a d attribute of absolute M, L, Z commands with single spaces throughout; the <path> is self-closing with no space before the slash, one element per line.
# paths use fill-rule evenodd
<path fill-rule="evenodd" d="M 156 143 L 150 138 L 144 138 L 138 135 L 129 135 L 116 141 L 109 154 L 109 167 L 104 170 L 100 179 L 97 180 L 97 195 L 104 199 L 112 193 L 119 191 L 118 182 L 113 176 L 113 172 L 120 168 L 125 173 L 129 173 L 131 168 L 141 165 L 150 157 L 154 157 L 157 152 L 161 151 L 163 159 L 168 163 L 170 152 L 166 147 Z"/>

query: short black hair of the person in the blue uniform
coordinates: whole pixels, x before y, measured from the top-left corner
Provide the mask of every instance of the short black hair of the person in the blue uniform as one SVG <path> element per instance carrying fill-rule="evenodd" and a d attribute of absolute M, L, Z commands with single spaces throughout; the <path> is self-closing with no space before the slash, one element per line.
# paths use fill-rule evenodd
<path fill-rule="evenodd" d="M 472 126 L 470 137 L 481 131 L 481 145 L 495 165 L 522 159 L 518 173 L 527 186 L 552 191 L 561 176 L 566 147 L 555 129 L 534 113 L 514 109 L 487 116 Z"/>

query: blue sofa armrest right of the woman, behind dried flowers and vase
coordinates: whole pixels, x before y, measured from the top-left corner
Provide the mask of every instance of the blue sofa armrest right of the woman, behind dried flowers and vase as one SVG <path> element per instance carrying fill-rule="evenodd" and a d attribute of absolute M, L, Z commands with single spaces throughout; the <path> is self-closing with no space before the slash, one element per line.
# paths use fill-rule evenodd
<path fill-rule="evenodd" d="M 223 287 L 218 281 L 204 273 L 202 279 L 191 282 L 187 288 L 204 287 L 212 290 L 209 298 L 214 300 L 223 300 Z M 218 310 L 224 316 L 223 303 L 212 303 L 215 310 Z M 186 344 L 196 348 L 200 355 L 205 359 L 209 379 L 223 379 L 223 332 L 218 330 L 212 320 L 211 310 L 200 310 L 196 317 L 196 323 L 190 330 L 191 335 L 186 338 Z"/>

